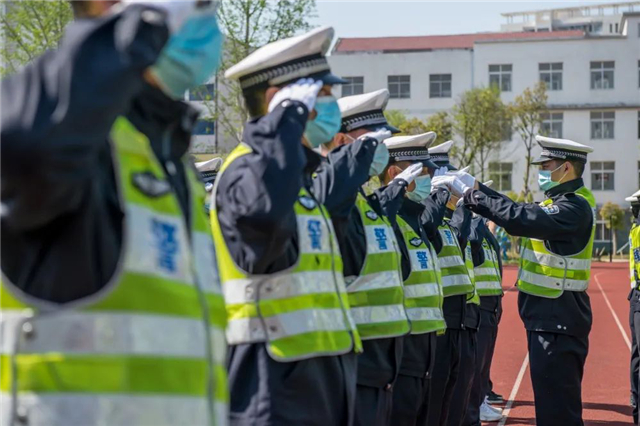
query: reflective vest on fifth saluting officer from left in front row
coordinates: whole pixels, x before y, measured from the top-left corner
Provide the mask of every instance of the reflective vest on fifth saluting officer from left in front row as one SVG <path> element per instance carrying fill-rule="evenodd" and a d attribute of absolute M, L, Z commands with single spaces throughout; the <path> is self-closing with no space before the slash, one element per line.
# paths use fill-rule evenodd
<path fill-rule="evenodd" d="M 467 256 L 462 255 L 460 243 L 449 227 L 447 220 L 438 226 L 442 237 L 442 250 L 438 253 L 438 265 L 442 271 L 442 288 L 444 297 L 462 294 L 473 295 L 473 260 L 471 247 L 467 245 Z"/>

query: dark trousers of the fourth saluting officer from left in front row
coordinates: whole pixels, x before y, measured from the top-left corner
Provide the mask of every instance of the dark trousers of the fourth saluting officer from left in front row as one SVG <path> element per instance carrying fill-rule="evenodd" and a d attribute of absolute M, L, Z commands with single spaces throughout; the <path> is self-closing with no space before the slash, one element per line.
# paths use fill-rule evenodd
<path fill-rule="evenodd" d="M 424 335 L 421 335 L 424 336 Z M 429 333 L 425 348 L 426 371 L 409 374 L 400 370 L 393 387 L 393 407 L 391 409 L 391 426 L 424 426 L 427 423 L 429 408 L 429 388 L 431 376 L 436 368 L 437 342 L 435 333 Z"/>

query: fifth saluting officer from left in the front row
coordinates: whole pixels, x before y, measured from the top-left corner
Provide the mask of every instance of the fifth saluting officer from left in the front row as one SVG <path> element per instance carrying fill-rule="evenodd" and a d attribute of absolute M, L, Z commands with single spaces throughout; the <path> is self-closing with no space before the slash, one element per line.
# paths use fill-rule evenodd
<path fill-rule="evenodd" d="M 456 170 L 449 160 L 453 141 L 429 149 L 437 167 Z M 433 185 L 448 187 L 453 176 L 434 177 Z M 457 207 L 459 189 L 452 189 L 441 225 L 429 230 L 435 244 L 442 245 L 438 263 L 444 289 L 443 311 L 446 333 L 438 335 L 434 374 L 429 392 L 429 425 L 461 425 L 468 406 L 475 375 L 476 331 L 480 323 L 480 300 L 475 292 L 473 257 L 469 236 L 471 212 Z M 480 253 L 478 261 L 484 261 Z"/>

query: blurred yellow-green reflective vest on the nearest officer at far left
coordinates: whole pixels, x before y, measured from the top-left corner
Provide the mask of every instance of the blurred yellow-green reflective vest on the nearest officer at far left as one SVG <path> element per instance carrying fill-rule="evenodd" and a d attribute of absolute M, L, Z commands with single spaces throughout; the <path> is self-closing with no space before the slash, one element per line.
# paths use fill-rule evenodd
<path fill-rule="evenodd" d="M 202 184 L 185 156 L 189 229 L 147 137 L 118 118 L 111 140 L 120 265 L 97 294 L 63 305 L 3 280 L 0 423 L 225 425 L 226 315 Z"/>

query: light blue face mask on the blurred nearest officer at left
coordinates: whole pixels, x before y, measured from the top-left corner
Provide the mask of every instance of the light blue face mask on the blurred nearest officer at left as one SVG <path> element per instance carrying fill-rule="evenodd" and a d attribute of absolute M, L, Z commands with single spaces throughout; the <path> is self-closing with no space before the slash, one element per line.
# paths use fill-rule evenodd
<path fill-rule="evenodd" d="M 215 9 L 187 18 L 152 67 L 164 92 L 182 99 L 185 91 L 206 83 L 220 65 L 223 41 Z"/>

